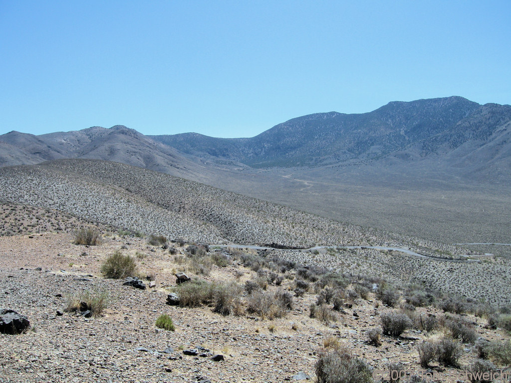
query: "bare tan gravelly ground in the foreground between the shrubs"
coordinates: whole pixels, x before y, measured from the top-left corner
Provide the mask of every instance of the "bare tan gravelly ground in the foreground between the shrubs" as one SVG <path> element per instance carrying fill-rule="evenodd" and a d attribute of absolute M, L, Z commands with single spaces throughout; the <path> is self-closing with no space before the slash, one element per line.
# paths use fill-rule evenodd
<path fill-rule="evenodd" d="M 222 316 L 207 306 L 169 306 L 165 301 L 175 285 L 174 273 L 183 268 L 169 250 L 151 246 L 143 238 L 114 233 L 104 236 L 99 246 L 74 245 L 73 239 L 67 233 L 0 237 L 0 306 L 27 316 L 33 326 L 16 336 L 0 334 L 0 381 L 282 382 L 306 375 L 305 381 L 312 381 L 318 352 L 330 337 L 344 342 L 375 370 L 401 362 L 406 369 L 419 371 L 416 345 L 441 335 L 412 329 L 399 338 L 383 336 L 379 347 L 368 344 L 366 330 L 378 327 L 381 314 L 391 310 L 373 293 L 328 324 L 309 317 L 314 293 L 295 297 L 287 316 L 273 320 L 251 314 Z M 177 256 L 184 254 L 183 247 L 173 246 Z M 153 276 L 154 288 L 137 290 L 122 285 L 122 280 L 103 278 L 100 266 L 115 250 L 132 255 L 141 275 Z M 237 262 L 227 267 L 213 265 L 209 275 L 192 275 L 241 284 L 255 277 Z M 292 289 L 293 281 L 285 279 L 281 288 Z M 268 287 L 269 291 L 276 289 L 275 285 Z M 101 317 L 65 312 L 66 297 L 88 290 L 103 290 L 111 297 Z M 443 315 L 433 307 L 417 310 Z M 160 314 L 170 315 L 175 331 L 155 326 Z M 484 319 L 466 318 L 474 323 L 479 337 L 509 338 L 501 329 L 485 329 Z M 222 354 L 225 360 L 183 354 L 197 346 Z M 463 349 L 460 363 L 466 366 L 476 351 L 470 344 Z"/>

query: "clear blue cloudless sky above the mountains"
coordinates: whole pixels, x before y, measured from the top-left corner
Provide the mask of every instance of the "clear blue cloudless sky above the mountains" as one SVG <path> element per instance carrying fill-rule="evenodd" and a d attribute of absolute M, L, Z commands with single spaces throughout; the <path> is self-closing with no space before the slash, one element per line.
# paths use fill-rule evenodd
<path fill-rule="evenodd" d="M 315 112 L 511 104 L 511 1 L 0 0 L 0 134 L 248 137 Z"/>

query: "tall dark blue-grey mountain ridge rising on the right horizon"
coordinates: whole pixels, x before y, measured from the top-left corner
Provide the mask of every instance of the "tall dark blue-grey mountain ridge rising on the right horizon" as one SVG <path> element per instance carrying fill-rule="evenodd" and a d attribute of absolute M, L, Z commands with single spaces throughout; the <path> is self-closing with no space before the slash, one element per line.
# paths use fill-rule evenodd
<path fill-rule="evenodd" d="M 390 155 L 415 160 L 447 156 L 455 161 L 453 157 L 477 155 L 484 146 L 489 148 L 486 159 L 490 161 L 491 153 L 507 156 L 511 143 L 497 146 L 494 140 L 508 134 L 510 122 L 509 105 L 479 105 L 449 97 L 391 102 L 362 114 L 310 114 L 252 138 L 213 138 L 197 133 L 151 137 L 184 153 L 252 167 L 361 163 Z"/>

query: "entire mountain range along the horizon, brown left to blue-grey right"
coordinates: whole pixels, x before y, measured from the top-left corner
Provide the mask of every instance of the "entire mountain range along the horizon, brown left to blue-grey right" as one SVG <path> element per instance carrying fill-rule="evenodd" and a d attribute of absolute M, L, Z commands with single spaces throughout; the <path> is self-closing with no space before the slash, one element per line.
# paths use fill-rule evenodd
<path fill-rule="evenodd" d="M 440 167 L 506 176 L 511 106 L 461 97 L 390 102 L 368 113 L 315 113 L 251 138 L 198 133 L 145 136 L 117 125 L 80 131 L 0 135 L 0 166 L 63 158 L 111 160 L 172 173 L 204 160 L 252 168 L 346 166 L 433 160 Z"/>

